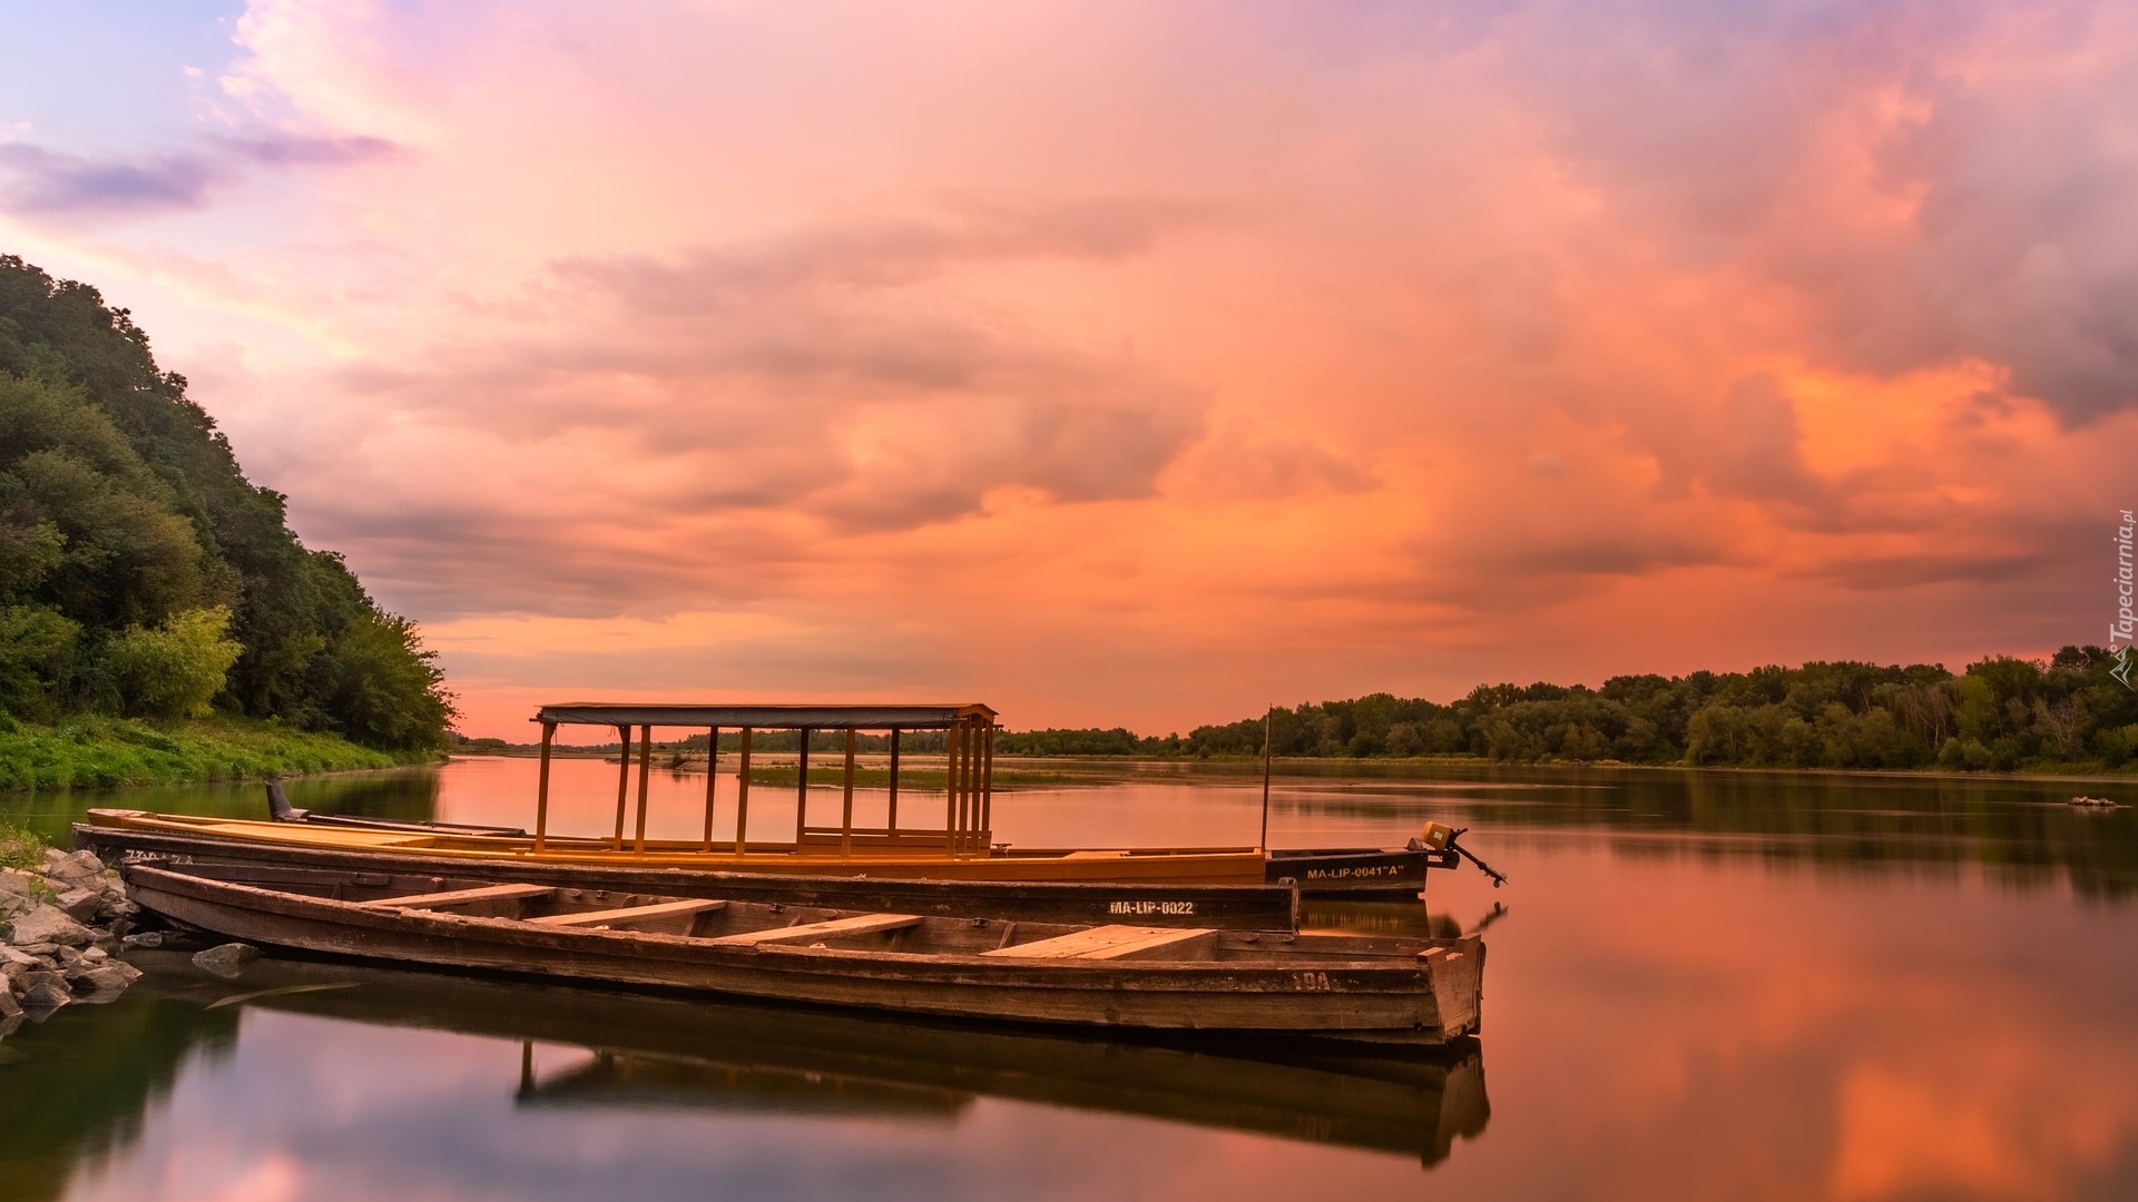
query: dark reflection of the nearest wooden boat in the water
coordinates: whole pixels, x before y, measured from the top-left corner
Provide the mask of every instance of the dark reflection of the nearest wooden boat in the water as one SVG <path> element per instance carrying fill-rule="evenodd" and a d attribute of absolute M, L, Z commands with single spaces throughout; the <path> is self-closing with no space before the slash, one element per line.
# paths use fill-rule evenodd
<path fill-rule="evenodd" d="M 139 956 L 143 986 L 188 973 L 246 1005 L 539 1044 L 524 1106 L 862 1112 L 941 1121 L 975 1097 L 1146 1114 L 1441 1161 L 1490 1108 L 1482 1050 L 1328 1057 L 1268 1042 L 1107 1042 L 971 1022 L 742 1001 L 682 1001 L 361 965 L 259 960 L 239 984 L 182 954 Z M 316 988 L 357 982 L 357 988 Z M 141 986 L 137 986 L 141 988 Z M 562 1048 L 582 1052 L 562 1052 Z M 564 1061 L 564 1063 L 558 1063 Z"/>

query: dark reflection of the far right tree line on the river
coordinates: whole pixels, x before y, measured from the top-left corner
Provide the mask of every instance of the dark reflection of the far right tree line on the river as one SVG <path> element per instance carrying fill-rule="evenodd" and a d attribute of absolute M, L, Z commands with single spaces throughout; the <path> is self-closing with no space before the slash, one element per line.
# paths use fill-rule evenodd
<path fill-rule="evenodd" d="M 2076 787 L 2038 779 L 1462 764 L 1358 772 L 1341 785 L 1317 781 L 1298 806 L 1405 819 L 1426 813 L 1420 802 L 1428 802 L 1432 817 L 1456 826 L 1674 836 L 1646 847 L 1621 838 L 1629 851 L 1655 856 L 1742 853 L 1864 870 L 1980 862 L 2018 885 L 2067 877 L 2087 896 L 2138 892 L 2138 808 L 2089 813 L 2063 804 Z"/>

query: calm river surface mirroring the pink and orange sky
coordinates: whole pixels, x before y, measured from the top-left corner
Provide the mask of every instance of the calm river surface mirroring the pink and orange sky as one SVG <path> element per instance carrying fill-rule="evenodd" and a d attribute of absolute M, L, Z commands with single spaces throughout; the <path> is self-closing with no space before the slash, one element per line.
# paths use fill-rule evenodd
<path fill-rule="evenodd" d="M 1274 845 L 1400 843 L 1437 819 L 1514 877 L 1494 892 L 1437 873 L 1428 909 L 1308 915 L 1488 926 L 1484 1037 L 1437 1063 L 304 960 L 224 984 L 143 956 L 122 1001 L 0 1039 L 0 1196 L 2138 1198 L 2138 811 L 2076 811 L 2074 791 L 1484 766 L 1281 779 Z M 2138 804 L 2123 783 L 2082 791 Z M 524 823 L 532 764 L 291 793 Z M 614 766 L 560 764 L 558 793 L 560 828 L 614 821 Z M 776 796 L 753 789 L 753 832 L 791 828 Z M 819 798 L 823 821 L 838 800 Z M 88 804 L 261 808 L 259 787 L 195 787 L 0 813 L 60 832 Z M 656 776 L 652 830 L 695 836 L 701 804 L 703 776 Z M 1255 783 L 1225 770 L 996 798 L 998 838 L 1024 845 L 1253 843 L 1257 821 Z"/>

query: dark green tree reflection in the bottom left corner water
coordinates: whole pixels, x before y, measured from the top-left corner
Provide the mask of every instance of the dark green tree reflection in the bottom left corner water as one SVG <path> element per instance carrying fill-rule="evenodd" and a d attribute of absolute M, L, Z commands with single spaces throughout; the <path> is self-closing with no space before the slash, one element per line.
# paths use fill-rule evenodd
<path fill-rule="evenodd" d="M 68 1005 L 0 1042 L 0 1181 L 21 1202 L 60 1198 L 77 1164 L 141 1138 L 143 1119 L 195 1048 L 237 1042 L 237 1010 L 135 988 L 109 1005 Z"/>

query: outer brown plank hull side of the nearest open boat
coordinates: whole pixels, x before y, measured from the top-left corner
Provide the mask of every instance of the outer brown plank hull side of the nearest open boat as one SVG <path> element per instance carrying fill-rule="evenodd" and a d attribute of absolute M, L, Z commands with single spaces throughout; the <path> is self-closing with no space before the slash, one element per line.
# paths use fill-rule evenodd
<path fill-rule="evenodd" d="M 1090 1029 L 1441 1046 L 1477 1027 L 1484 973 L 1484 945 L 1475 937 L 1443 941 L 1430 954 L 1392 956 L 1390 962 L 1315 954 L 1285 954 L 1276 958 L 1281 962 L 990 960 L 821 943 L 723 945 L 684 935 L 562 930 L 505 918 L 366 907 L 152 864 L 128 864 L 126 883 L 135 903 L 167 920 L 274 947 L 603 986 Z M 1311 947 L 1323 937 L 1268 939 L 1287 945 L 1308 941 L 1304 945 Z"/>

